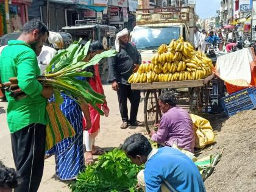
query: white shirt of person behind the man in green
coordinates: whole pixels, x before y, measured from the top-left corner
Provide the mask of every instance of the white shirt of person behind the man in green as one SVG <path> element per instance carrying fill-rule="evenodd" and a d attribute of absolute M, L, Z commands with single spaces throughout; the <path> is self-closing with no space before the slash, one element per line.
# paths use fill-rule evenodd
<path fill-rule="evenodd" d="M 44 74 L 45 69 L 50 64 L 52 58 L 57 51 L 54 48 L 43 45 L 40 55 L 37 57 L 37 62 L 41 71 Z"/>

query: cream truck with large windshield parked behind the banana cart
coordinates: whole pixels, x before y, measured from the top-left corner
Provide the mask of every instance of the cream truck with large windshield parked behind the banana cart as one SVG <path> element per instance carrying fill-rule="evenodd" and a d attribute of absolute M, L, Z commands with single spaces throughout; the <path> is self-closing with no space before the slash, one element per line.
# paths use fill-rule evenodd
<path fill-rule="evenodd" d="M 138 9 L 132 31 L 132 43 L 137 46 L 143 61 L 151 60 L 161 44 L 169 44 L 180 36 L 194 42 L 193 7 L 168 7 L 165 9 Z"/>

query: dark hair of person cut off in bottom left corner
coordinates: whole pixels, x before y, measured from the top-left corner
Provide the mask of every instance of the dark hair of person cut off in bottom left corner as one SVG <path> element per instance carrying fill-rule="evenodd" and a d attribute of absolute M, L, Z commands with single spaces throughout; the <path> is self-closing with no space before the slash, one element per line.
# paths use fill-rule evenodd
<path fill-rule="evenodd" d="M 15 169 L 5 167 L 0 161 L 0 188 L 15 188 L 19 181 L 20 176 Z"/>

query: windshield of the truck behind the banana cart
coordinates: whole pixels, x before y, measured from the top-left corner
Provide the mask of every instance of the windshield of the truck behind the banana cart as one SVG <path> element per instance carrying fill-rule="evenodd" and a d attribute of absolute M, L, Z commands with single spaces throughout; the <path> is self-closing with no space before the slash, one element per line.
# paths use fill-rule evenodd
<path fill-rule="evenodd" d="M 133 30 L 132 43 L 137 49 L 154 49 L 161 44 L 169 44 L 172 39 L 178 39 L 180 27 L 137 27 Z"/>

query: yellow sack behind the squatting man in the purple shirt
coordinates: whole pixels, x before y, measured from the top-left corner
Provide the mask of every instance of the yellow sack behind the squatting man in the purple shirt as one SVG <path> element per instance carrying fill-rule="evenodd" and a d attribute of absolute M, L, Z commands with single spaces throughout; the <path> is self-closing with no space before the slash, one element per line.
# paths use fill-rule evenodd
<path fill-rule="evenodd" d="M 215 141 L 213 128 L 207 119 L 190 114 L 194 125 L 194 136 L 196 137 L 196 148 L 204 148 L 207 144 Z"/>

